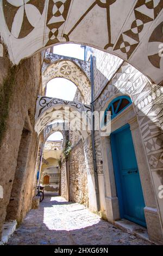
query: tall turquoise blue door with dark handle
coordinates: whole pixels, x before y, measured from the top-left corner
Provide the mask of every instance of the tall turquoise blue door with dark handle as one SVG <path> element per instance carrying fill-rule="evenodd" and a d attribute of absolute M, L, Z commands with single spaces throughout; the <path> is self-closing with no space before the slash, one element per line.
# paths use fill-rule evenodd
<path fill-rule="evenodd" d="M 145 202 L 129 124 L 111 133 L 111 151 L 121 218 L 145 227 Z"/>

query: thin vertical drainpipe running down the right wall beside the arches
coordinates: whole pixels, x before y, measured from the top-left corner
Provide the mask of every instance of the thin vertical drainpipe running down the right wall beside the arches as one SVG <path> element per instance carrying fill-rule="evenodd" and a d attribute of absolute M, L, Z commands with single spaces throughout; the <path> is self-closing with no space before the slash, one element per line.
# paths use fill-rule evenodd
<path fill-rule="evenodd" d="M 97 165 L 96 165 L 96 152 L 95 152 L 95 115 L 94 112 L 94 80 L 93 80 L 93 61 L 91 54 L 91 137 L 92 137 L 92 153 L 93 153 L 93 170 L 95 175 L 95 192 L 96 192 L 96 202 L 97 202 L 97 211 L 100 210 L 99 204 L 99 186 L 98 186 L 98 173 L 97 173 Z"/>

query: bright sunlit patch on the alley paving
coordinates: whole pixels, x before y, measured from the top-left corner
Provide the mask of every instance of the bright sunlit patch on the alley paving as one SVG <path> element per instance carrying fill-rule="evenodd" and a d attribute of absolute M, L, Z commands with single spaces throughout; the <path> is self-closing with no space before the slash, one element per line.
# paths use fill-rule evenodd
<path fill-rule="evenodd" d="M 52 197 L 51 207 L 44 208 L 43 223 L 49 230 L 78 230 L 95 225 L 101 218 L 84 205 L 69 203 L 62 197 Z"/>

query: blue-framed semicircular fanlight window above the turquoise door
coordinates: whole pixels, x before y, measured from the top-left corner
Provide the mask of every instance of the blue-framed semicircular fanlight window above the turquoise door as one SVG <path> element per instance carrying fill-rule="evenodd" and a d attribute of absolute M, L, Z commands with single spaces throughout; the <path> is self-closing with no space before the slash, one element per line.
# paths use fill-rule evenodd
<path fill-rule="evenodd" d="M 106 112 L 111 112 L 111 119 L 116 117 L 116 115 L 120 114 L 126 107 L 128 107 L 132 103 L 129 96 L 119 96 L 112 100 L 108 107 L 105 109 L 104 114 L 104 123 L 107 121 Z"/>

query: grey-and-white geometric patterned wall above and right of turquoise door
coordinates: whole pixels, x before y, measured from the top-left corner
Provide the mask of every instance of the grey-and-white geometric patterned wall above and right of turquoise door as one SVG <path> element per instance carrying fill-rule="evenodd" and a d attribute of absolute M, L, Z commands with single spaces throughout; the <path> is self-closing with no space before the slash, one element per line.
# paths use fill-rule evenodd
<path fill-rule="evenodd" d="M 131 69 L 130 74 L 126 72 L 128 67 Z M 108 102 L 116 98 L 117 95 L 129 95 L 139 123 L 149 167 L 155 171 L 160 179 L 160 184 L 163 185 L 163 174 L 160 170 L 162 167 L 161 155 L 163 154 L 161 86 L 155 84 L 156 89 L 154 90 L 147 78 L 140 71 L 135 69 L 137 72 L 134 72 L 133 69 L 135 69 L 133 66 L 123 62 L 117 69 L 118 71 L 115 70 L 115 75 L 111 77 L 111 80 L 108 80 L 97 69 L 96 57 L 93 56 L 93 70 L 96 70 L 97 82 L 100 77 L 100 82 L 105 81 L 106 84 L 105 86 L 101 84 L 103 89 L 95 100 L 95 110 L 101 111 L 108 107 Z"/>

